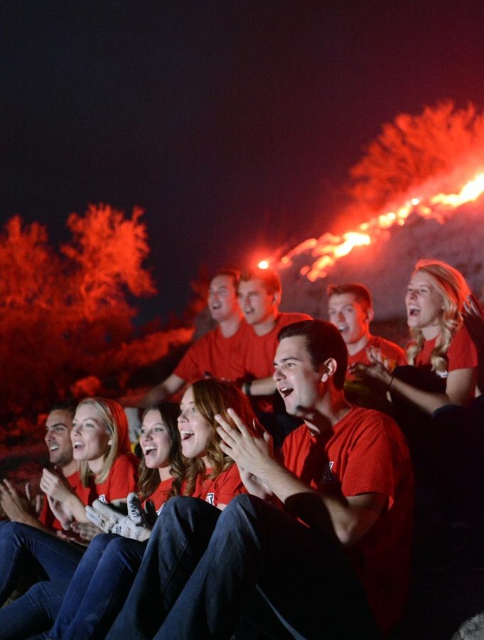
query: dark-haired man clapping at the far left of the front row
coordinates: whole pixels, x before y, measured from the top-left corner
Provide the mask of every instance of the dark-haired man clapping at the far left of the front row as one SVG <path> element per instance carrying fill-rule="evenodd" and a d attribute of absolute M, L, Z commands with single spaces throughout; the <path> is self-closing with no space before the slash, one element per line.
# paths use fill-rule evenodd
<path fill-rule="evenodd" d="M 45 421 L 45 444 L 48 448 L 50 464 L 55 469 L 55 471 L 48 471 L 48 473 L 60 474 L 75 491 L 80 487 L 80 480 L 77 462 L 72 458 L 70 439 L 74 412 L 75 402 L 58 402 L 52 407 Z M 26 491 L 28 493 L 28 488 Z M 8 480 L 4 480 L 4 484 L 0 484 L 0 503 L 12 522 L 20 522 L 45 530 L 62 528 L 50 511 L 47 496 L 44 496 L 38 518 L 33 512 L 29 497 L 21 496 Z"/>

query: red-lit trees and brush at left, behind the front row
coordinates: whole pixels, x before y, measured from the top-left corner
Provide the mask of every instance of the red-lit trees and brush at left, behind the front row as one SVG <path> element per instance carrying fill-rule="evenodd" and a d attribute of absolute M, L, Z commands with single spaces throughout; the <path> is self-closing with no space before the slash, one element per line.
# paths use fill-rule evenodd
<path fill-rule="evenodd" d="M 127 295 L 156 292 L 142 211 L 72 213 L 57 252 L 45 228 L 11 218 L 0 233 L 0 414 L 48 407 L 85 375 L 126 380 L 192 331 L 133 339 Z M 122 370 L 119 370 L 122 368 Z"/>

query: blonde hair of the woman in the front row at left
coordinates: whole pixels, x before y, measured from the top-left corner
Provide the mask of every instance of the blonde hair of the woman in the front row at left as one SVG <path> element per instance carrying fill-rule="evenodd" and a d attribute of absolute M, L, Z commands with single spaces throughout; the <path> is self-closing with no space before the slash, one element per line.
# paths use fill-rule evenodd
<path fill-rule="evenodd" d="M 127 434 L 128 423 L 127 417 L 122 409 L 121 405 L 114 400 L 107 400 L 105 398 L 85 398 L 81 400 L 76 407 L 76 410 L 82 405 L 92 405 L 100 415 L 104 427 L 106 427 L 111 444 L 108 451 L 104 454 L 104 461 L 102 469 L 96 476 L 96 484 L 101 484 L 109 476 L 112 464 L 122 451 L 120 449 L 124 445 L 125 434 Z M 89 480 L 92 476 L 92 471 L 89 468 L 87 460 L 83 460 L 80 463 L 79 471 L 80 479 L 83 486 L 89 486 Z"/>

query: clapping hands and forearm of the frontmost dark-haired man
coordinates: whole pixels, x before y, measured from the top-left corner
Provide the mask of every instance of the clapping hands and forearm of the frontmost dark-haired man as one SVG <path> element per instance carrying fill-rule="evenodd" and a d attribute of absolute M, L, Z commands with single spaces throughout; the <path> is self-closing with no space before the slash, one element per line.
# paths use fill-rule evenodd
<path fill-rule="evenodd" d="M 264 439 L 250 433 L 233 410 L 229 414 L 237 430 L 217 416 L 222 451 L 242 469 L 257 476 L 291 513 L 309 526 L 335 536 L 343 545 L 351 545 L 370 529 L 387 505 L 384 494 L 339 498 L 311 489 L 271 457 Z"/>

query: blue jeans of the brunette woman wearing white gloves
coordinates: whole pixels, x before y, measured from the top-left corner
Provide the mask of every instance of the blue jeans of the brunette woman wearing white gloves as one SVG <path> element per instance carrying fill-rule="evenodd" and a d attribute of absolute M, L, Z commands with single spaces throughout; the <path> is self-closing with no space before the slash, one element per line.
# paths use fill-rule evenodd
<path fill-rule="evenodd" d="M 49 639 L 102 639 L 114 622 L 141 564 L 146 543 L 114 533 L 92 539 L 70 581 Z"/>

